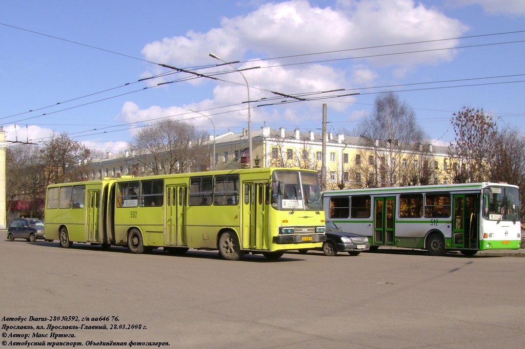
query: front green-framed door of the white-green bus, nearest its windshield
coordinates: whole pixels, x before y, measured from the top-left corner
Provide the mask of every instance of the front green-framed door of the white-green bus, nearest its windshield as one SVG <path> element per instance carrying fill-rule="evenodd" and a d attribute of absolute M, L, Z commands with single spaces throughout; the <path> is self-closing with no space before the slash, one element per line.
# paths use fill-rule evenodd
<path fill-rule="evenodd" d="M 478 248 L 479 196 L 477 194 L 453 195 L 453 248 Z"/>

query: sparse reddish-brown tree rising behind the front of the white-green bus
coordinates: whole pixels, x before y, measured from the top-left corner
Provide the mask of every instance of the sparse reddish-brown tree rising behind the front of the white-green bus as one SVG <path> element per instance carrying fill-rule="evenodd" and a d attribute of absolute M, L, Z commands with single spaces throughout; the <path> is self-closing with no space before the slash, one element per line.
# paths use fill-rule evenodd
<path fill-rule="evenodd" d="M 463 107 L 453 114 L 456 134 L 448 155 L 455 183 L 482 182 L 489 177 L 486 163 L 496 154 L 497 128 L 483 109 Z"/>

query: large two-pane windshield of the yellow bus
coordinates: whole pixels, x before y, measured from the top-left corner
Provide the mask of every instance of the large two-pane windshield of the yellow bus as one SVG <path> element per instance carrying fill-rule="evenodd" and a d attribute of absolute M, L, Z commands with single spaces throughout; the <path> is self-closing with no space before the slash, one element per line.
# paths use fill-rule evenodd
<path fill-rule="evenodd" d="M 271 205 L 277 210 L 321 210 L 318 174 L 308 171 L 274 171 Z"/>

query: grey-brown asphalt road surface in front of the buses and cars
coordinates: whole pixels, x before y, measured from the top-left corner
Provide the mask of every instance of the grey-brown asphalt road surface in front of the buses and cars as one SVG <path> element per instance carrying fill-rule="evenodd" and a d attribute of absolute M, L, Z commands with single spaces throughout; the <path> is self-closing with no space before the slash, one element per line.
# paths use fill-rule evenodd
<path fill-rule="evenodd" d="M 175 348 L 517 348 L 525 342 L 525 258 L 380 249 L 356 257 L 309 252 L 225 261 L 217 252 L 133 255 L 73 246 L 0 241 L 2 347 L 112 341 Z M 74 337 L 50 337 L 58 334 Z"/>

